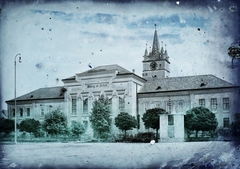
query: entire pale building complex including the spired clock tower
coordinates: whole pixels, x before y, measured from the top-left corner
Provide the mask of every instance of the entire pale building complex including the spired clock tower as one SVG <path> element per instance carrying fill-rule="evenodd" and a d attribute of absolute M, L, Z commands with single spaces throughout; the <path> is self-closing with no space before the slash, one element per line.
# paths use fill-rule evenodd
<path fill-rule="evenodd" d="M 25 118 L 43 121 L 46 113 L 59 108 L 69 124 L 82 122 L 92 136 L 92 103 L 104 95 L 111 103 L 112 119 L 120 112 L 128 112 L 139 118 L 137 131 L 146 130 L 141 118 L 147 109 L 165 109 L 168 114 L 160 115 L 160 141 L 184 141 L 187 110 L 209 108 L 219 127 L 228 127 L 234 114 L 239 113 L 239 86 L 213 75 L 170 77 L 170 58 L 163 44 L 159 47 L 156 30 L 152 50 L 148 53 L 146 49 L 143 57 L 142 77 L 116 64 L 104 65 L 63 79 L 61 87 L 41 88 L 18 97 L 18 122 Z M 14 118 L 14 99 L 6 103 L 9 118 Z M 119 130 L 113 125 L 112 132 Z"/>

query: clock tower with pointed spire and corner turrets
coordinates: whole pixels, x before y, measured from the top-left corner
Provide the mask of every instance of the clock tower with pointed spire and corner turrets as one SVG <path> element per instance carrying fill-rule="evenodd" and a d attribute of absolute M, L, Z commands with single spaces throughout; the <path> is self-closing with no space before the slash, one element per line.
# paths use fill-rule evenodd
<path fill-rule="evenodd" d="M 169 56 L 165 45 L 163 48 L 163 42 L 161 43 L 161 49 L 159 49 L 159 41 L 157 36 L 156 24 L 155 32 L 153 37 L 152 51 L 148 53 L 147 46 L 144 53 L 143 59 L 143 72 L 142 76 L 145 79 L 155 78 L 167 78 L 169 77 Z"/>

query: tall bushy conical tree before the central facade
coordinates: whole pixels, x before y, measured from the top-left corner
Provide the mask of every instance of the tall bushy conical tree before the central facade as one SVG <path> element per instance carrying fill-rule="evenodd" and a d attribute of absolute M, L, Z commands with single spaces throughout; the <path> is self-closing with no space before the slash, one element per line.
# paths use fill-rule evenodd
<path fill-rule="evenodd" d="M 94 132 L 100 139 L 103 135 L 110 132 L 111 128 L 111 112 L 108 99 L 103 95 L 93 102 L 92 112 L 89 116 Z"/>

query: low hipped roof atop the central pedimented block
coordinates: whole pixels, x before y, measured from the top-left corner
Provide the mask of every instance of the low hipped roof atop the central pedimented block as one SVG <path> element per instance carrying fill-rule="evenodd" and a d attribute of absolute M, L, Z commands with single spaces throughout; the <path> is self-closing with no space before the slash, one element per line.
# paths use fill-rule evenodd
<path fill-rule="evenodd" d="M 89 75 L 92 76 L 92 75 L 99 75 L 99 74 L 115 73 L 116 71 L 118 71 L 119 74 L 132 73 L 127 69 L 124 69 L 123 67 L 117 64 L 114 64 L 114 65 L 98 66 L 88 71 L 78 73 L 77 76 L 89 76 Z"/>

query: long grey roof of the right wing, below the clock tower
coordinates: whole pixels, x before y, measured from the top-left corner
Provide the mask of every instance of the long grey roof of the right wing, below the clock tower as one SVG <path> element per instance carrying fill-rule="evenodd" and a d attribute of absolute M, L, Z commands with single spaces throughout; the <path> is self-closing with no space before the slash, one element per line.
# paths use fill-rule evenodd
<path fill-rule="evenodd" d="M 169 77 L 148 80 L 140 89 L 139 93 L 208 89 L 233 86 L 233 84 L 222 80 L 214 75 Z"/>

